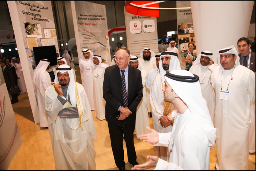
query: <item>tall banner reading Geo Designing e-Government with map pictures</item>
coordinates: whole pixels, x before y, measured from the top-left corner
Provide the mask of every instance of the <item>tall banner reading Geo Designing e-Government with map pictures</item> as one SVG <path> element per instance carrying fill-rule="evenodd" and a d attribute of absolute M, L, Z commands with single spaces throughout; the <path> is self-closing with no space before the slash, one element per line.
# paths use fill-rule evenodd
<path fill-rule="evenodd" d="M 35 123 L 39 123 L 38 105 L 32 83 L 35 69 L 35 56 L 32 50 L 33 47 L 53 44 L 56 50 L 59 49 L 51 1 L 7 1 L 7 4 L 31 110 Z M 45 38 L 51 39 L 47 41 Z M 56 53 L 58 56 L 59 51 Z M 47 71 L 53 71 L 54 67 L 57 65 Z"/>

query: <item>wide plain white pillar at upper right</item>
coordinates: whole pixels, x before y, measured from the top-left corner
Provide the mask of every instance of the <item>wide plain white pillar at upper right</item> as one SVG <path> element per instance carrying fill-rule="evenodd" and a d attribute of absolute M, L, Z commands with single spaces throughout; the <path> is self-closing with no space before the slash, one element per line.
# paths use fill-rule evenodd
<path fill-rule="evenodd" d="M 254 1 L 190 1 L 197 54 L 210 50 L 217 62 L 219 49 L 231 45 L 237 48 L 237 40 L 248 36 L 253 3 Z"/>

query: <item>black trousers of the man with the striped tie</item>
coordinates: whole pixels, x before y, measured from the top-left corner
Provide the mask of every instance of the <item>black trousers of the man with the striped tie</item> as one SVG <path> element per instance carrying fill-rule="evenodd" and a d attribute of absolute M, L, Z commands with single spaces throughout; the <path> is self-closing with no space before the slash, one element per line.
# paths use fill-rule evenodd
<path fill-rule="evenodd" d="M 127 124 L 123 129 L 119 125 L 117 125 L 117 118 L 111 117 L 108 121 L 108 130 L 110 134 L 111 147 L 115 159 L 115 164 L 118 168 L 125 166 L 125 162 L 123 161 L 123 135 L 125 137 L 128 161 L 129 163 L 136 162 L 137 156 L 133 142 L 135 119 L 136 113 L 133 112 L 129 117 L 126 118 Z"/>

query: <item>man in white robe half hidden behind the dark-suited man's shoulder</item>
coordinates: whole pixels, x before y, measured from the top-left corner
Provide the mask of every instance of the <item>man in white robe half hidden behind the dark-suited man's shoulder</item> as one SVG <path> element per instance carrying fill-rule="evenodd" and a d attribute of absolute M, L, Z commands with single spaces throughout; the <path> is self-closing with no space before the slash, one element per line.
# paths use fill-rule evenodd
<path fill-rule="evenodd" d="M 146 127 L 149 127 L 149 120 L 148 120 L 148 110 L 147 110 L 147 98 L 146 98 L 146 71 L 144 70 L 144 67 L 141 66 L 139 63 L 139 58 L 135 55 L 132 55 L 130 58 L 130 66 L 137 68 L 141 71 L 141 79 L 142 79 L 142 93 L 143 97 L 141 102 L 139 103 L 137 107 L 137 115 L 136 115 L 136 122 L 135 122 L 135 130 L 134 134 L 136 134 L 137 138 L 139 138 L 142 134 L 147 134 L 149 131 L 146 129 Z"/>

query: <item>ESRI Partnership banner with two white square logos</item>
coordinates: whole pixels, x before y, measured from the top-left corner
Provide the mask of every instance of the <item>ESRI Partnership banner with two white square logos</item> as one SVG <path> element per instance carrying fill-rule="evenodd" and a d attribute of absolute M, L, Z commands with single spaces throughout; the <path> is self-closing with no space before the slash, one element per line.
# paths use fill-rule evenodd
<path fill-rule="evenodd" d="M 157 22 L 156 17 L 137 16 L 125 13 L 125 27 L 127 37 L 127 48 L 131 55 L 140 57 L 144 48 L 150 48 L 158 54 Z"/>

